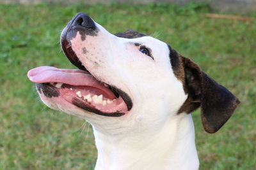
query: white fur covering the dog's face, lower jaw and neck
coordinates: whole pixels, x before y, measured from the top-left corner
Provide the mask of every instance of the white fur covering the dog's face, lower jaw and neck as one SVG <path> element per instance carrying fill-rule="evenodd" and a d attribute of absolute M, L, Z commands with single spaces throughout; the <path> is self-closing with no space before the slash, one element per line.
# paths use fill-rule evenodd
<path fill-rule="evenodd" d="M 166 43 L 150 36 L 118 38 L 96 25 L 97 36 L 82 41 L 77 33 L 72 48 L 95 78 L 131 97 L 131 111 L 122 117 L 103 117 L 41 94 L 44 103 L 92 124 L 97 170 L 198 169 L 193 120 L 186 113 L 177 115 L 188 96 L 173 74 Z M 154 60 L 134 43 L 150 48 Z"/>

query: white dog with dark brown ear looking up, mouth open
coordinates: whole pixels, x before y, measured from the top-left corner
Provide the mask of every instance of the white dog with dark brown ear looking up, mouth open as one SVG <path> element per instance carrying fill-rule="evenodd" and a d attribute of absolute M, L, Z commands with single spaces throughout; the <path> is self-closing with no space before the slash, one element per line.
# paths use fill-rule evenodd
<path fill-rule="evenodd" d="M 198 169 L 191 112 L 218 131 L 240 103 L 195 62 L 150 36 L 111 34 L 85 13 L 61 32 L 61 48 L 78 69 L 28 72 L 43 103 L 90 122 L 95 169 Z"/>

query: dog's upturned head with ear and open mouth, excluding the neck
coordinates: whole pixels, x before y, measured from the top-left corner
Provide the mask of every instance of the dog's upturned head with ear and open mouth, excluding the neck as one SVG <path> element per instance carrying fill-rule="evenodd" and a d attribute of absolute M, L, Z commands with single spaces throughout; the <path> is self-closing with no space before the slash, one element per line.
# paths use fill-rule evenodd
<path fill-rule="evenodd" d="M 63 29 L 61 47 L 79 69 L 38 67 L 29 79 L 47 106 L 104 131 L 148 129 L 201 107 L 204 129 L 212 133 L 239 104 L 170 45 L 132 30 L 110 34 L 84 13 Z"/>

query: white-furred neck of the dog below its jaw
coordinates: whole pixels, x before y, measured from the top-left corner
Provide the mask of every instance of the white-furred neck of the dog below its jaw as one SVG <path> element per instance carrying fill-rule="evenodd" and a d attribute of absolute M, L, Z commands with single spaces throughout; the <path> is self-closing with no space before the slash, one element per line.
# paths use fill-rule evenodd
<path fill-rule="evenodd" d="M 198 169 L 191 115 L 171 118 L 162 127 L 154 133 L 115 136 L 93 127 L 98 150 L 95 169 Z"/>

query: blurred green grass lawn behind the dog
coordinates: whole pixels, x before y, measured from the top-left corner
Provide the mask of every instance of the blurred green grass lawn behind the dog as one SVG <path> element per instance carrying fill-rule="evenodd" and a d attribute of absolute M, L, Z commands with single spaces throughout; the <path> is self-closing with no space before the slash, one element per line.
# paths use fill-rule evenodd
<path fill-rule="evenodd" d="M 241 105 L 216 134 L 204 132 L 199 111 L 193 113 L 200 169 L 255 169 L 256 22 L 207 18 L 209 9 L 198 4 L 1 4 L 0 169 L 93 169 L 92 128 L 44 106 L 26 77 L 37 66 L 74 68 L 59 37 L 79 11 L 112 33 L 157 35 L 236 94 Z"/>

